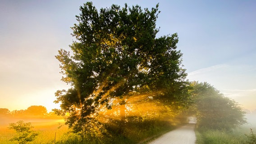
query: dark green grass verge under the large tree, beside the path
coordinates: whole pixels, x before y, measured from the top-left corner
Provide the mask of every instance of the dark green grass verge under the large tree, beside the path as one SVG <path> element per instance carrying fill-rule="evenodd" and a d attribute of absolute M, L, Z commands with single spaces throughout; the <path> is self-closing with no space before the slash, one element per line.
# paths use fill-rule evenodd
<path fill-rule="evenodd" d="M 163 121 L 159 123 L 151 121 L 137 125 L 140 126 L 128 125 L 124 128 L 123 134 L 112 131 L 102 137 L 90 137 L 88 135 L 80 137 L 78 134 L 67 133 L 56 144 L 146 144 L 149 140 L 174 129 L 174 126 L 169 122 Z"/>

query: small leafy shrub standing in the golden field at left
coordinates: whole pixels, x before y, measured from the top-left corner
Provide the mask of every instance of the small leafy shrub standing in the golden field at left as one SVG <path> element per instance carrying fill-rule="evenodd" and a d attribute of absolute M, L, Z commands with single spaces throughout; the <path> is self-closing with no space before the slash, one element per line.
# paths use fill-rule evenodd
<path fill-rule="evenodd" d="M 27 144 L 28 142 L 33 141 L 38 133 L 34 130 L 31 122 L 24 123 L 24 121 L 18 121 L 17 123 L 10 123 L 9 129 L 15 130 L 17 135 L 10 141 L 18 141 L 18 144 Z"/>

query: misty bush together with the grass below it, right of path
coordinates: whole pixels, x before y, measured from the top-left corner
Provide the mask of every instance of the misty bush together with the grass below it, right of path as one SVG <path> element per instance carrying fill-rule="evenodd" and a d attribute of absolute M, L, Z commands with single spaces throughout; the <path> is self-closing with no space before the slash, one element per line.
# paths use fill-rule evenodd
<path fill-rule="evenodd" d="M 247 125 L 246 112 L 239 103 L 224 97 L 208 83 L 191 83 L 194 103 L 190 114 L 197 117 L 196 144 L 256 144 L 255 134 Z"/>

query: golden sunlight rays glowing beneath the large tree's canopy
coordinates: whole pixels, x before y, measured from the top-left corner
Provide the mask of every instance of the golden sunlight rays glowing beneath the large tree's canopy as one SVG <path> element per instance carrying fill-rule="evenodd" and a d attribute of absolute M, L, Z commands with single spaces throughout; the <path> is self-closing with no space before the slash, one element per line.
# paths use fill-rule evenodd
<path fill-rule="evenodd" d="M 121 99 L 115 98 L 113 101 L 116 104 L 112 105 L 111 109 L 102 108 L 96 119 L 101 123 L 112 123 L 112 125 L 115 125 L 115 121 L 122 119 L 128 121 L 131 118 L 135 121 L 173 121 L 179 112 L 171 105 L 165 105 L 154 99 L 157 94 L 161 94 L 161 91 L 150 94 L 126 95 L 123 96 L 124 104 L 119 104 Z"/>

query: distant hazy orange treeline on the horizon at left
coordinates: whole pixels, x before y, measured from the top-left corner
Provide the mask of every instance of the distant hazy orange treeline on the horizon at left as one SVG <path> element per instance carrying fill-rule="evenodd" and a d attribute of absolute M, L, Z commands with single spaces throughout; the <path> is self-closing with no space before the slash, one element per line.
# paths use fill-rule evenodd
<path fill-rule="evenodd" d="M 46 107 L 33 105 L 23 110 L 10 111 L 8 108 L 0 108 L 0 117 L 8 118 L 62 118 L 55 112 L 47 112 Z"/>

